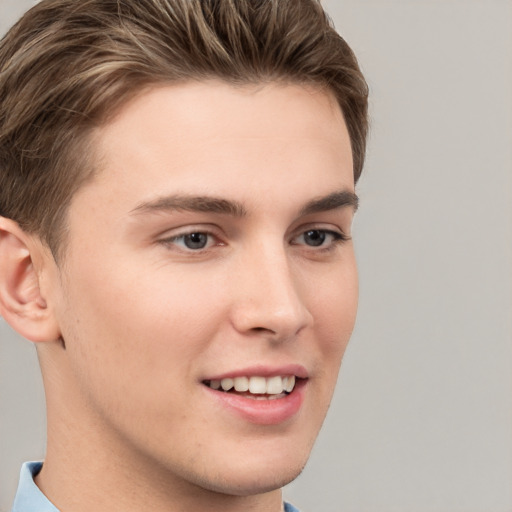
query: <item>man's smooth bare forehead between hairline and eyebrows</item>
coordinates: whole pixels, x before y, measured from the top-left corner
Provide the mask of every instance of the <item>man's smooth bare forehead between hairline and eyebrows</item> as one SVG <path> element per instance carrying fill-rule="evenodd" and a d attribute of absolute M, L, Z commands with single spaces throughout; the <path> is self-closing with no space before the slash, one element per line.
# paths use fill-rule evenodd
<path fill-rule="evenodd" d="M 273 185 L 264 179 L 269 169 L 288 180 L 290 195 L 295 181 L 302 186 L 301 175 L 317 181 L 327 173 L 338 188 L 353 188 L 343 115 L 330 93 L 313 87 L 216 81 L 155 87 L 98 128 L 94 146 L 97 175 L 77 196 L 91 199 L 95 189 L 98 200 L 124 201 L 126 208 L 159 192 L 233 193 L 243 200 L 242 189 L 249 197 Z"/>

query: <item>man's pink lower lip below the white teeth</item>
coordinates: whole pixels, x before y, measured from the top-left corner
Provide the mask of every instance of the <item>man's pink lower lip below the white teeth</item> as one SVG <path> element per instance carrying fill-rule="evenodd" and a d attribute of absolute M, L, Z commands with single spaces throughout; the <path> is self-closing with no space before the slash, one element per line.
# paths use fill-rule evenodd
<path fill-rule="evenodd" d="M 295 416 L 304 402 L 306 380 L 298 380 L 293 391 L 283 398 L 254 400 L 234 393 L 216 391 L 204 386 L 205 390 L 222 406 L 244 420 L 257 425 L 278 425 Z"/>

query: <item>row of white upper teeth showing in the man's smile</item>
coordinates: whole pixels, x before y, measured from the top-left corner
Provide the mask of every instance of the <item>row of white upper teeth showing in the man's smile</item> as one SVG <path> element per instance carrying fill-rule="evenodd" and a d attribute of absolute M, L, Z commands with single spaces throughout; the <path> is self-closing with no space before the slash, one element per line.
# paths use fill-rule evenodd
<path fill-rule="evenodd" d="M 282 395 L 284 392 L 291 393 L 295 387 L 295 376 L 287 375 L 275 377 L 234 377 L 222 380 L 211 380 L 206 383 L 215 390 L 222 389 L 230 391 L 234 388 L 239 393 L 251 393 L 253 395 Z M 256 397 L 258 399 L 266 399 L 266 397 Z"/>

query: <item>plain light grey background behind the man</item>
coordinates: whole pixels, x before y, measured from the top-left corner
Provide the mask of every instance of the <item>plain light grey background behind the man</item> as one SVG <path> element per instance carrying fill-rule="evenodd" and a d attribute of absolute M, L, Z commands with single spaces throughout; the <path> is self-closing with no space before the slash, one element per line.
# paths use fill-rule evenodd
<path fill-rule="evenodd" d="M 0 0 L 0 32 L 34 2 Z M 512 511 L 512 2 L 327 1 L 372 91 L 358 324 L 285 495 L 310 512 Z M 35 351 L 0 319 L 0 510 L 44 454 Z M 271 470 L 271 468 L 269 468 Z"/>

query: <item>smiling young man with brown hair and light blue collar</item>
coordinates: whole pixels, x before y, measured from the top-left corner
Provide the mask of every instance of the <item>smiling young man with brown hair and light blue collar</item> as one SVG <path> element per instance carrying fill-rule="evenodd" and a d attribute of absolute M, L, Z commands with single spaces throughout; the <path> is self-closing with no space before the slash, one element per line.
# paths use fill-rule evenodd
<path fill-rule="evenodd" d="M 0 98 L 0 313 L 48 415 L 13 511 L 295 510 L 355 320 L 367 132 L 319 3 L 43 0 Z"/>

